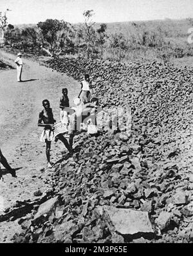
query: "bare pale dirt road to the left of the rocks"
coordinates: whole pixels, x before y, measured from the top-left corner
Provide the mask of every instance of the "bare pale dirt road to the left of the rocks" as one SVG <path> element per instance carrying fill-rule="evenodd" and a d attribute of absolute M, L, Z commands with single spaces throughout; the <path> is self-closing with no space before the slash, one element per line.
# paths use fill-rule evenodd
<path fill-rule="evenodd" d="M 14 65 L 15 55 L 0 52 L 0 57 Z M 18 168 L 17 178 L 6 173 L 0 181 L 0 206 L 3 204 L 4 208 L 15 201 L 37 199 L 33 193 L 49 187 L 44 183 L 46 172 L 40 171 L 46 166 L 45 145 L 39 142 L 42 128 L 37 127 L 42 100 L 50 100 L 54 117 L 59 121 L 62 88 L 68 88 L 71 105 L 80 91 L 78 82 L 71 77 L 33 61 L 23 61 L 23 83 L 17 83 L 16 70 L 0 71 L 0 145 L 12 168 Z M 61 159 L 65 150 L 62 143 L 52 143 L 51 161 Z M 0 242 L 12 242 L 12 235 L 20 230 L 17 220 L 0 222 Z"/>

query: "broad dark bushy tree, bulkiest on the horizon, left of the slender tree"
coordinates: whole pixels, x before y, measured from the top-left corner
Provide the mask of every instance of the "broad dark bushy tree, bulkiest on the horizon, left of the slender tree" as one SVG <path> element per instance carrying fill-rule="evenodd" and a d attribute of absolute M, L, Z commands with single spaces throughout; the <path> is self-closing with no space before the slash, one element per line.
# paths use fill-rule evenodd
<path fill-rule="evenodd" d="M 66 21 L 57 19 L 46 19 L 37 24 L 42 34 L 42 49 L 51 56 L 59 55 L 65 47 L 73 47 L 71 26 Z"/>

